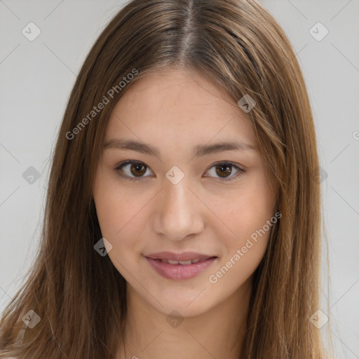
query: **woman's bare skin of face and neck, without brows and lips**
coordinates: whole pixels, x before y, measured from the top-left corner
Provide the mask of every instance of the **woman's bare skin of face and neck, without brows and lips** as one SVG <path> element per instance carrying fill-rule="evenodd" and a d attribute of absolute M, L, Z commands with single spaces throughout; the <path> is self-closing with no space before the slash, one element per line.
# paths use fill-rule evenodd
<path fill-rule="evenodd" d="M 139 79 L 118 101 L 104 142 L 120 137 L 151 144 L 161 156 L 108 148 L 97 166 L 97 217 L 102 236 L 112 245 L 111 262 L 128 288 L 127 353 L 118 346 L 116 358 L 157 359 L 169 353 L 172 359 L 238 358 L 252 274 L 264 257 L 270 231 L 252 241 L 240 260 L 233 261 L 233 255 L 273 217 L 276 193 L 257 149 L 198 158 L 192 149 L 229 140 L 255 146 L 247 114 L 200 74 L 168 69 Z M 144 168 L 115 170 L 128 159 Z M 216 170 L 215 164 L 223 161 L 233 163 L 229 171 Z M 174 165 L 184 173 L 177 184 L 165 177 Z M 119 173 L 142 179 L 130 181 Z M 226 177 L 233 179 L 226 182 Z M 194 278 L 170 280 L 144 257 L 161 251 L 193 251 L 217 259 Z M 209 276 L 231 257 L 235 264 L 210 283 Z M 172 311 L 178 318 L 168 316 Z M 168 318 L 179 321 L 170 325 Z"/>

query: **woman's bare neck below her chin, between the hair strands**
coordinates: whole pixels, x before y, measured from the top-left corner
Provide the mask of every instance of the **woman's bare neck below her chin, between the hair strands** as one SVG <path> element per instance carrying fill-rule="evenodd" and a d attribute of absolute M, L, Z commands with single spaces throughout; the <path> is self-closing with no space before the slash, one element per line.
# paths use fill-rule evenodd
<path fill-rule="evenodd" d="M 251 286 L 249 278 L 224 302 L 198 316 L 169 318 L 128 285 L 126 351 L 118 348 L 116 359 L 238 359 Z"/>

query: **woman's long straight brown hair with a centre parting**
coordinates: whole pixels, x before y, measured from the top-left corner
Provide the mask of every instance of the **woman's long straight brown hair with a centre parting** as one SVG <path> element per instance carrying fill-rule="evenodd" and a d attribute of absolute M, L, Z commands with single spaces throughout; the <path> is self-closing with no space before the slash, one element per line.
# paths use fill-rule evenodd
<path fill-rule="evenodd" d="M 100 34 L 69 97 L 41 247 L 1 318 L 0 358 L 114 358 L 118 339 L 125 341 L 126 281 L 94 250 L 102 236 L 93 179 L 118 99 L 169 67 L 208 76 L 235 104 L 255 99 L 248 118 L 277 180 L 281 218 L 255 271 L 243 358 L 325 358 L 310 320 L 320 309 L 322 236 L 311 104 L 290 41 L 255 0 L 134 0 Z M 41 318 L 32 329 L 22 320 L 29 311 Z"/>

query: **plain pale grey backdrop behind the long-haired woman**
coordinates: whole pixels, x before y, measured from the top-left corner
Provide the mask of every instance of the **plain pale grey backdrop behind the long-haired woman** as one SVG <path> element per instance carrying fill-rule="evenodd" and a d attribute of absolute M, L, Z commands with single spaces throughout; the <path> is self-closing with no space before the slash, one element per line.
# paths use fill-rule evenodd
<path fill-rule="evenodd" d="M 359 358 L 359 0 L 260 2 L 292 41 L 308 86 L 329 241 L 323 300 L 329 287 L 338 358 Z M 49 156 L 76 74 L 121 6 L 0 0 L 0 311 L 34 259 Z"/>

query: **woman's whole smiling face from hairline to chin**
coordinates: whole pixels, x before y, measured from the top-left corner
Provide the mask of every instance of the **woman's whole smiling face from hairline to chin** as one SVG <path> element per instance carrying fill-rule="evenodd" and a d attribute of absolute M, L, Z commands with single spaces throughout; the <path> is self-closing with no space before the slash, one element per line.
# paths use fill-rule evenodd
<path fill-rule="evenodd" d="M 111 112 L 97 217 L 128 294 L 158 311 L 209 311 L 264 256 L 276 194 L 246 116 L 218 86 L 174 69 L 133 83 Z"/>

